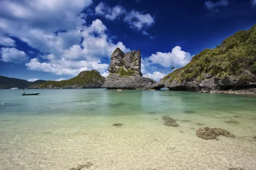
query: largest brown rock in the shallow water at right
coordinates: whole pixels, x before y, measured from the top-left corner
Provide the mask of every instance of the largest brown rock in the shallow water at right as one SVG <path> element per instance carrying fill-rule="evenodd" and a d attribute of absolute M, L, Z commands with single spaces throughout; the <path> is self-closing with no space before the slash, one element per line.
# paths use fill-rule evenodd
<path fill-rule="evenodd" d="M 219 135 L 223 135 L 229 138 L 234 138 L 229 131 L 221 129 L 221 128 L 210 128 L 210 127 L 202 127 L 196 130 L 196 135 L 202 139 L 217 139 Z"/>

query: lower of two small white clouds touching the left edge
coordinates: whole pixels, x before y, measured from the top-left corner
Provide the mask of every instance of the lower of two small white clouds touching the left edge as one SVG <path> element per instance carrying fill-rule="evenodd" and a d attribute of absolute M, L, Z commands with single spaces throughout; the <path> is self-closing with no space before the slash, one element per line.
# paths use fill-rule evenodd
<path fill-rule="evenodd" d="M 24 51 L 19 51 L 16 48 L 1 48 L 0 50 L 1 57 L 0 60 L 3 62 L 14 62 L 14 63 L 24 63 L 27 62 L 29 57 Z"/>

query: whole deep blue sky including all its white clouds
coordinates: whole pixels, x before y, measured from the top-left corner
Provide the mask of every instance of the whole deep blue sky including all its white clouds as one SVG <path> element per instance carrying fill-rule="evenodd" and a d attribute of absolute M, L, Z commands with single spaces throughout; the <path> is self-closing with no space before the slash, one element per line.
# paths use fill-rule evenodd
<path fill-rule="evenodd" d="M 155 80 L 256 24 L 256 0 L 1 0 L 0 75 L 70 79 L 140 49 Z"/>

